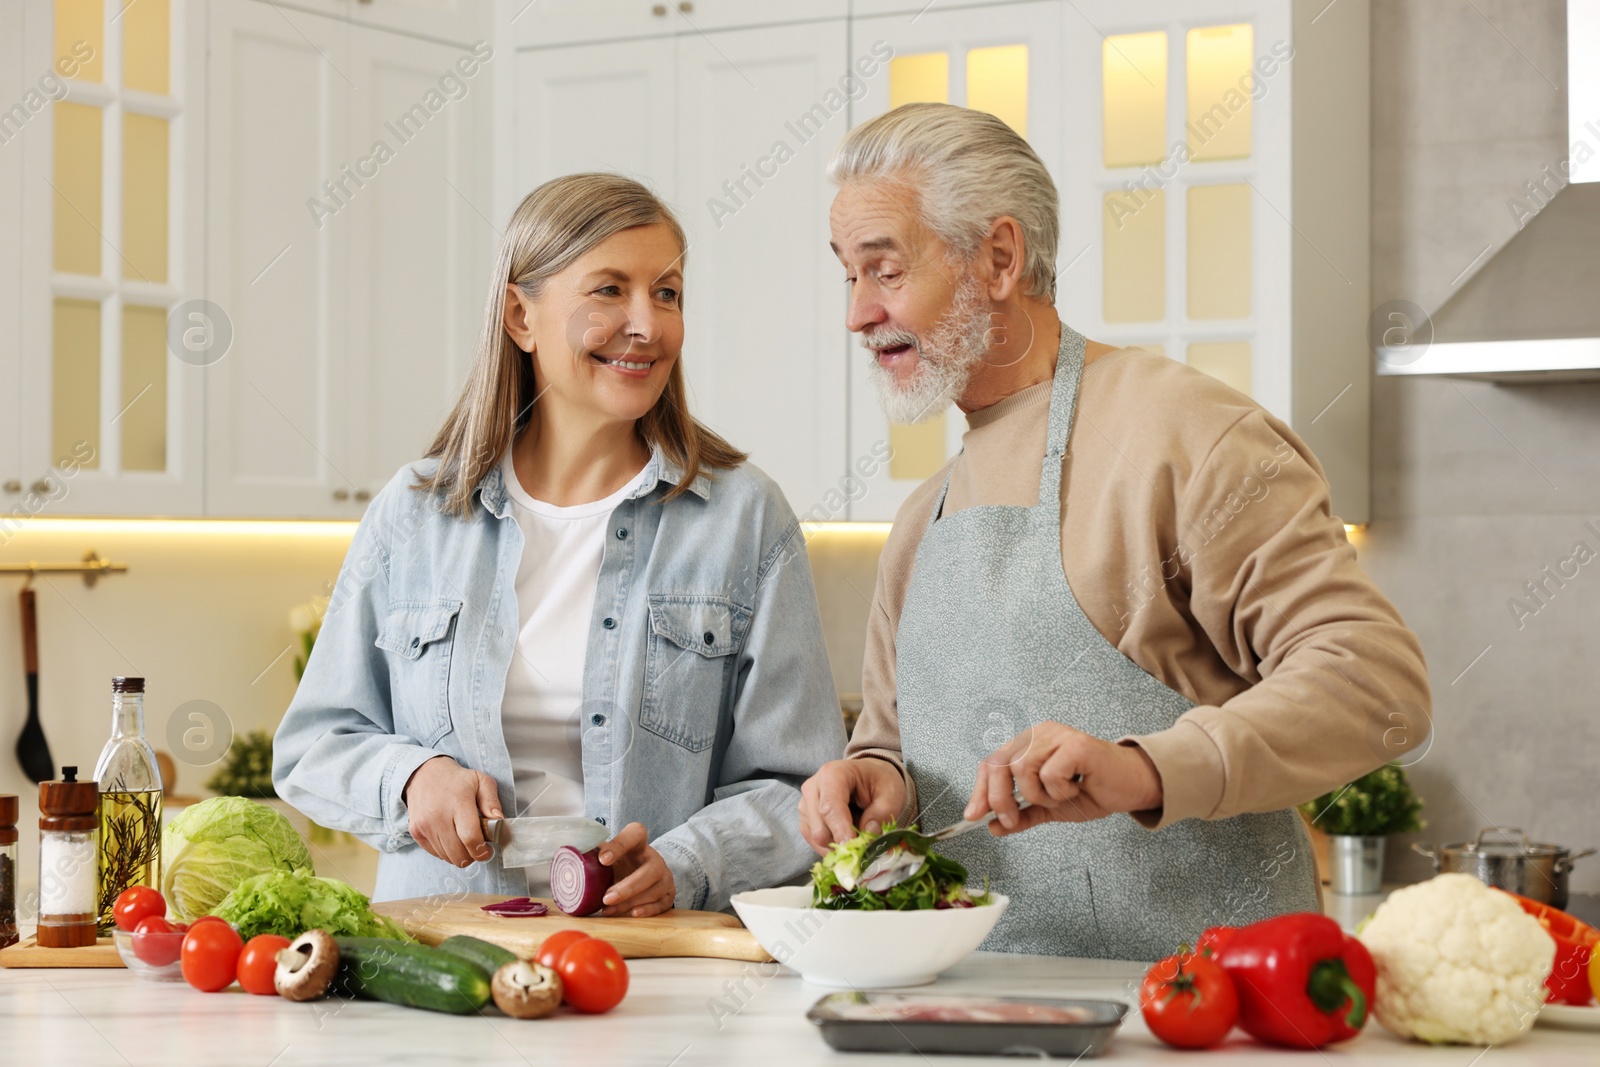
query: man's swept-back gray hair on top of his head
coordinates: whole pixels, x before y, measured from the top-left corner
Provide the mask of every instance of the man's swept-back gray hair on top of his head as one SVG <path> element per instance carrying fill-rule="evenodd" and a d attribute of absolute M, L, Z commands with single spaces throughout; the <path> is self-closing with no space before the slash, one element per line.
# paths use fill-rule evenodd
<path fill-rule="evenodd" d="M 1056 182 L 1027 141 L 994 115 L 902 104 L 845 134 L 827 176 L 838 184 L 904 184 L 917 194 L 923 226 L 968 258 L 995 219 L 1011 216 L 1022 227 L 1026 293 L 1054 299 Z"/>

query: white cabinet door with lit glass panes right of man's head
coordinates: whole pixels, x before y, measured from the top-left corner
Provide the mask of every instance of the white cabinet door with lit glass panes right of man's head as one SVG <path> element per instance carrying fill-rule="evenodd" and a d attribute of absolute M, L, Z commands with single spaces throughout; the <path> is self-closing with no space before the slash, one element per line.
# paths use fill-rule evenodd
<path fill-rule="evenodd" d="M 1064 285 L 1059 307 L 1099 341 L 1187 362 L 1286 418 L 1293 50 L 1280 8 L 1077 5 L 1066 125 L 1090 150 L 1067 157 L 1062 248 L 1098 269 Z M 1283 358 L 1256 358 L 1262 344 Z"/>

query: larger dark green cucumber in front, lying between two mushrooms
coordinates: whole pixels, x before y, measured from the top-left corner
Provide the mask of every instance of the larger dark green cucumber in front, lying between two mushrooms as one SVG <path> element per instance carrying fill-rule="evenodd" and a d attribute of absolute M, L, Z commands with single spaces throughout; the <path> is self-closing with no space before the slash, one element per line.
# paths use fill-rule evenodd
<path fill-rule="evenodd" d="M 387 937 L 334 937 L 333 989 L 406 1008 L 470 1016 L 490 1003 L 490 973 L 470 960 Z"/>

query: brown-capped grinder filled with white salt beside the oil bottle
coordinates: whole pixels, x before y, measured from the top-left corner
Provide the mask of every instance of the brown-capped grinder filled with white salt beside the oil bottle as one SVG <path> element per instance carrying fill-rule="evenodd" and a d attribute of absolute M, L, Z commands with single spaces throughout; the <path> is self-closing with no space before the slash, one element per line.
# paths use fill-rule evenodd
<path fill-rule="evenodd" d="M 38 784 L 38 944 L 93 945 L 96 936 L 99 787 L 61 768 L 59 782 Z"/>

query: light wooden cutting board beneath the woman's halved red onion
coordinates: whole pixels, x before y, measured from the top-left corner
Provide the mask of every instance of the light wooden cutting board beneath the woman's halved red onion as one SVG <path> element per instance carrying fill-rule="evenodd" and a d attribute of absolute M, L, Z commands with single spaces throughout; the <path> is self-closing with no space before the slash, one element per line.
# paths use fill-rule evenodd
<path fill-rule="evenodd" d="M 446 902 L 427 897 L 384 901 L 373 910 L 400 923 L 422 944 L 437 945 L 453 934 L 482 937 L 531 958 L 539 942 L 558 929 L 581 929 L 590 937 L 610 941 L 626 958 L 640 957 L 707 957 L 712 960 L 771 960 L 755 936 L 733 915 L 720 912 L 670 910 L 650 918 L 573 918 L 550 901 L 549 915 L 538 918 L 502 918 L 482 907 L 506 897 L 474 893 Z M 538 897 L 536 897 L 538 899 Z"/>

